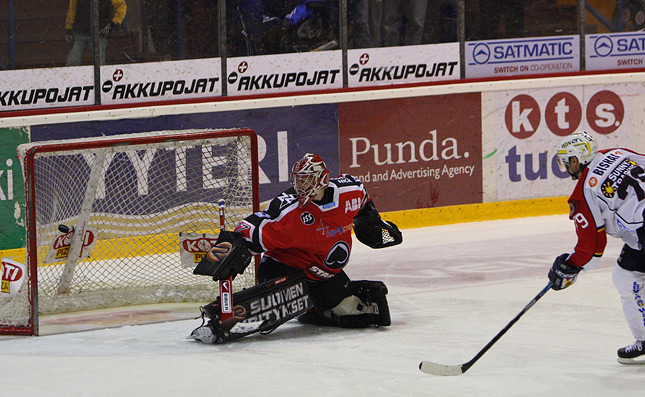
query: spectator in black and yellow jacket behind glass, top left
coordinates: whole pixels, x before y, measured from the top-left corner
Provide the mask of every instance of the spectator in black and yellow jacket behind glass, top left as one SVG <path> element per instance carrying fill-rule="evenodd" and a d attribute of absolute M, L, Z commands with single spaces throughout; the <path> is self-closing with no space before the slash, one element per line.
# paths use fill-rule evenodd
<path fill-rule="evenodd" d="M 69 0 L 65 20 L 65 40 L 72 45 L 67 54 L 67 66 L 81 64 L 86 49 L 92 48 L 91 0 Z M 105 49 L 110 32 L 121 25 L 127 6 L 125 0 L 98 0 L 99 4 L 99 60 L 105 65 Z"/>

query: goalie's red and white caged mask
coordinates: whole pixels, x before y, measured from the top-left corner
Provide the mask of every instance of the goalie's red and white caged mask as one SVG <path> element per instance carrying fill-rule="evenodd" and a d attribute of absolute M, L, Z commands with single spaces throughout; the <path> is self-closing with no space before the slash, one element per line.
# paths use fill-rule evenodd
<path fill-rule="evenodd" d="M 291 168 L 291 184 L 296 189 L 298 202 L 304 207 L 314 196 L 329 185 L 329 170 L 322 158 L 307 153 Z"/>

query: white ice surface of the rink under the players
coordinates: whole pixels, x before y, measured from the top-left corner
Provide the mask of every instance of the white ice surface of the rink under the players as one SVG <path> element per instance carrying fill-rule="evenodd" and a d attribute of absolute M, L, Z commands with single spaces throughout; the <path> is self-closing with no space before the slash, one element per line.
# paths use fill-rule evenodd
<path fill-rule="evenodd" d="M 566 215 L 404 230 L 400 246 L 355 245 L 352 279 L 383 280 L 392 326 L 288 322 L 226 345 L 185 339 L 182 320 L 0 339 L 4 396 L 636 396 L 645 366 L 616 362 L 632 343 L 611 269 L 549 291 L 468 372 L 437 377 L 422 360 L 469 361 L 546 285 L 575 245 Z M 197 307 L 195 307 L 197 314 Z"/>

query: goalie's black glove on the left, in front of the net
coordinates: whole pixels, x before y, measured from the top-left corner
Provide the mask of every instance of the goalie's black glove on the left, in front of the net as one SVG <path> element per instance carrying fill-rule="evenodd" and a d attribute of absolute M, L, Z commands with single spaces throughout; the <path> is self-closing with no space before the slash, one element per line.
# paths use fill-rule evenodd
<path fill-rule="evenodd" d="M 213 280 L 224 280 L 229 275 L 235 278 L 251 262 L 251 254 L 239 233 L 222 231 L 217 242 L 193 270 L 193 274 L 212 276 Z"/>

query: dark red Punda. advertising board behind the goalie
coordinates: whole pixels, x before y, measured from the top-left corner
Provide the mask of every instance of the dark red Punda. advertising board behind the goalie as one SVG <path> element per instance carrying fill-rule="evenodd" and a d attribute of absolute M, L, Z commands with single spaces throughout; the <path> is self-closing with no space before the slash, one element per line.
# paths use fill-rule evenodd
<path fill-rule="evenodd" d="M 341 170 L 365 183 L 380 211 L 481 203 L 480 98 L 339 104 Z"/>

